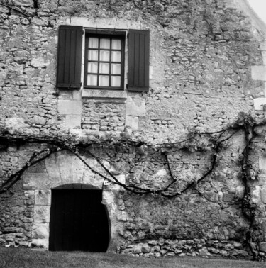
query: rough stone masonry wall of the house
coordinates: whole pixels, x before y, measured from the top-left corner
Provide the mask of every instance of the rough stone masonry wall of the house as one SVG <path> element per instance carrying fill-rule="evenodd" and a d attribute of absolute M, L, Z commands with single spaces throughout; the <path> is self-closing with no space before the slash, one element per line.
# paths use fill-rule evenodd
<path fill-rule="evenodd" d="M 126 137 L 160 147 L 184 140 L 192 129 L 222 130 L 240 112 L 265 118 L 265 28 L 245 1 L 6 0 L 0 3 L 0 13 L 1 138 L 24 139 L 1 143 L 1 184 L 49 147 L 28 138 L 67 136 L 90 140 L 87 150 L 122 184 L 162 189 L 172 172 L 177 182 L 170 192 L 176 192 L 209 169 L 210 151 L 174 150 L 168 155 L 168 169 L 164 155 L 154 147 L 118 146 L 116 141 Z M 58 88 L 61 25 L 149 30 L 148 91 L 129 91 L 127 75 L 123 90 Z M 84 50 L 82 42 L 83 59 Z M 125 74 L 128 68 L 125 60 Z M 251 245 L 260 257 L 266 255 L 264 139 L 258 135 L 250 153 L 257 174 L 250 183 L 251 199 L 260 208 Z M 250 220 L 240 202 L 245 194 L 239 165 L 244 147 L 243 133 L 234 135 L 216 168 L 199 185 L 203 196 L 190 189 L 172 199 L 133 194 L 106 182 L 77 155 L 55 152 L 26 169 L 22 179 L 0 195 L 0 244 L 48 249 L 52 189 L 71 185 L 102 190 L 110 252 L 251 257 L 245 243 Z M 80 152 L 82 159 L 106 174 L 88 151 Z"/>

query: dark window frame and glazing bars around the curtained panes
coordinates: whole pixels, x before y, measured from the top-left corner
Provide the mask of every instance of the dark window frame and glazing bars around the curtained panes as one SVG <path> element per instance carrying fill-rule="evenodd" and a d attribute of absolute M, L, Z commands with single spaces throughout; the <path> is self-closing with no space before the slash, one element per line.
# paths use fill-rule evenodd
<path fill-rule="evenodd" d="M 87 85 L 87 75 L 88 73 L 88 43 L 89 43 L 89 37 L 96 37 L 96 38 L 108 38 L 108 39 L 119 39 L 121 40 L 121 86 L 89 86 Z M 126 31 L 122 30 L 91 30 L 91 29 L 85 29 L 85 49 L 84 49 L 84 89 L 106 89 L 106 90 L 124 90 L 125 85 L 125 59 L 126 59 Z M 109 50 L 112 51 L 111 48 L 109 49 L 101 49 L 97 48 L 97 50 Z M 113 50 L 116 51 L 116 50 Z M 110 53 L 111 54 L 111 53 Z M 95 62 L 100 62 L 99 60 L 99 52 L 98 52 L 98 60 Z M 111 59 L 109 60 L 110 64 L 110 71 L 111 71 Z M 117 63 L 117 62 L 113 62 Z M 119 62 L 120 63 L 120 62 Z M 97 84 L 99 84 L 99 65 L 97 69 Z M 109 72 L 109 84 L 111 85 L 111 72 Z M 115 75 L 117 76 L 117 74 Z"/>

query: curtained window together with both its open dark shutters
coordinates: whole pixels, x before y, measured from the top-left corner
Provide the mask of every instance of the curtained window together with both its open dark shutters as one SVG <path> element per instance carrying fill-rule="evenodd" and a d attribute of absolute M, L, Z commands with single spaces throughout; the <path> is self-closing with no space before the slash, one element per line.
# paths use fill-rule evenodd
<path fill-rule="evenodd" d="M 60 26 L 57 54 L 57 88 L 80 89 L 84 62 L 84 89 L 148 91 L 150 33 L 148 30 L 85 30 Z M 126 35 L 128 33 L 128 35 Z M 128 58 L 125 40 L 128 38 Z M 84 59 L 82 59 L 82 46 Z M 125 65 L 128 66 L 127 74 Z"/>

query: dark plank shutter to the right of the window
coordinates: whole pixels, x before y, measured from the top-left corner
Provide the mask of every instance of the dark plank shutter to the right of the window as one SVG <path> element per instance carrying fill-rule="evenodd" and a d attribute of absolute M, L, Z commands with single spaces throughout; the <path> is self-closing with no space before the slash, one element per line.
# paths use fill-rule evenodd
<path fill-rule="evenodd" d="M 150 32 L 128 31 L 128 90 L 148 91 L 150 65 Z"/>

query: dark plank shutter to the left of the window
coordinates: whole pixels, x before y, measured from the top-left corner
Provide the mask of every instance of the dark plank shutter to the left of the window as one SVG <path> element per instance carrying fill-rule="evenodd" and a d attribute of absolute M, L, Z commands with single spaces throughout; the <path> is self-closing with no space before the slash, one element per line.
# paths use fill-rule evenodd
<path fill-rule="evenodd" d="M 57 87 L 79 89 L 82 70 L 82 26 L 59 26 Z"/>

